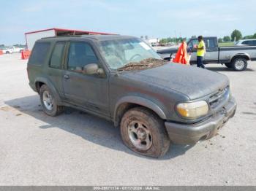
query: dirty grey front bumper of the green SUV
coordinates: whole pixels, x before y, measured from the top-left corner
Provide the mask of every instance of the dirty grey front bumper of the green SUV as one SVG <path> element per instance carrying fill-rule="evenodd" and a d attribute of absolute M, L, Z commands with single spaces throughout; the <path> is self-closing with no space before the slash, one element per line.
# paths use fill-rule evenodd
<path fill-rule="evenodd" d="M 234 116 L 236 113 L 236 101 L 234 98 L 217 114 L 208 120 L 195 124 L 178 124 L 175 122 L 165 122 L 165 128 L 171 141 L 175 144 L 196 144 L 215 136 L 217 130 Z"/>

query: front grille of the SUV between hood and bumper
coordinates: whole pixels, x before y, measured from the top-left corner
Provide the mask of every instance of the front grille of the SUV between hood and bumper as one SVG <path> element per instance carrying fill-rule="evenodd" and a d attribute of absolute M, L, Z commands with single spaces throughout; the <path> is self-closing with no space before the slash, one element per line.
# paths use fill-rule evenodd
<path fill-rule="evenodd" d="M 208 103 L 210 104 L 211 109 L 217 108 L 229 95 L 229 88 L 226 87 L 223 90 L 219 90 L 219 92 L 215 93 L 214 95 L 211 95 L 211 97 L 208 100 Z"/>

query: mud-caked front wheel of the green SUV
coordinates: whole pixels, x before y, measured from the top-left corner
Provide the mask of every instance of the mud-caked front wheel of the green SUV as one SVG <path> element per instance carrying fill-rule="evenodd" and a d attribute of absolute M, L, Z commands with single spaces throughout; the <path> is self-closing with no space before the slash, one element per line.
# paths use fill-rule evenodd
<path fill-rule="evenodd" d="M 143 107 L 129 109 L 120 128 L 124 144 L 141 155 L 161 157 L 170 147 L 164 122 Z"/>

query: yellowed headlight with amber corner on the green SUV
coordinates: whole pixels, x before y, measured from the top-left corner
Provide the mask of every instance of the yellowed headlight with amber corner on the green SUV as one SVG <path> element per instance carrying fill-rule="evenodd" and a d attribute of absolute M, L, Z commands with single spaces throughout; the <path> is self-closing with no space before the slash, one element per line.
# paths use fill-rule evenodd
<path fill-rule="evenodd" d="M 208 114 L 209 108 L 206 101 L 196 101 L 191 103 L 181 103 L 177 105 L 177 112 L 182 117 L 196 119 Z"/>

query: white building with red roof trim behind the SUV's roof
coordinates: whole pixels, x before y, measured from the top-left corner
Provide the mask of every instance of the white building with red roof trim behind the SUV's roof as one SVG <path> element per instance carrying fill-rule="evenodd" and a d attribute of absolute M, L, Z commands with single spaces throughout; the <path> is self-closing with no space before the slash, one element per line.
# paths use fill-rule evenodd
<path fill-rule="evenodd" d="M 82 35 L 82 34 L 90 35 L 90 34 L 108 34 L 108 33 L 94 32 L 94 31 L 78 31 L 78 30 L 63 29 L 63 28 L 48 28 L 45 30 L 28 32 L 25 34 L 25 37 L 26 37 L 26 45 L 28 49 L 32 50 L 34 46 L 34 42 L 44 37 Z"/>

